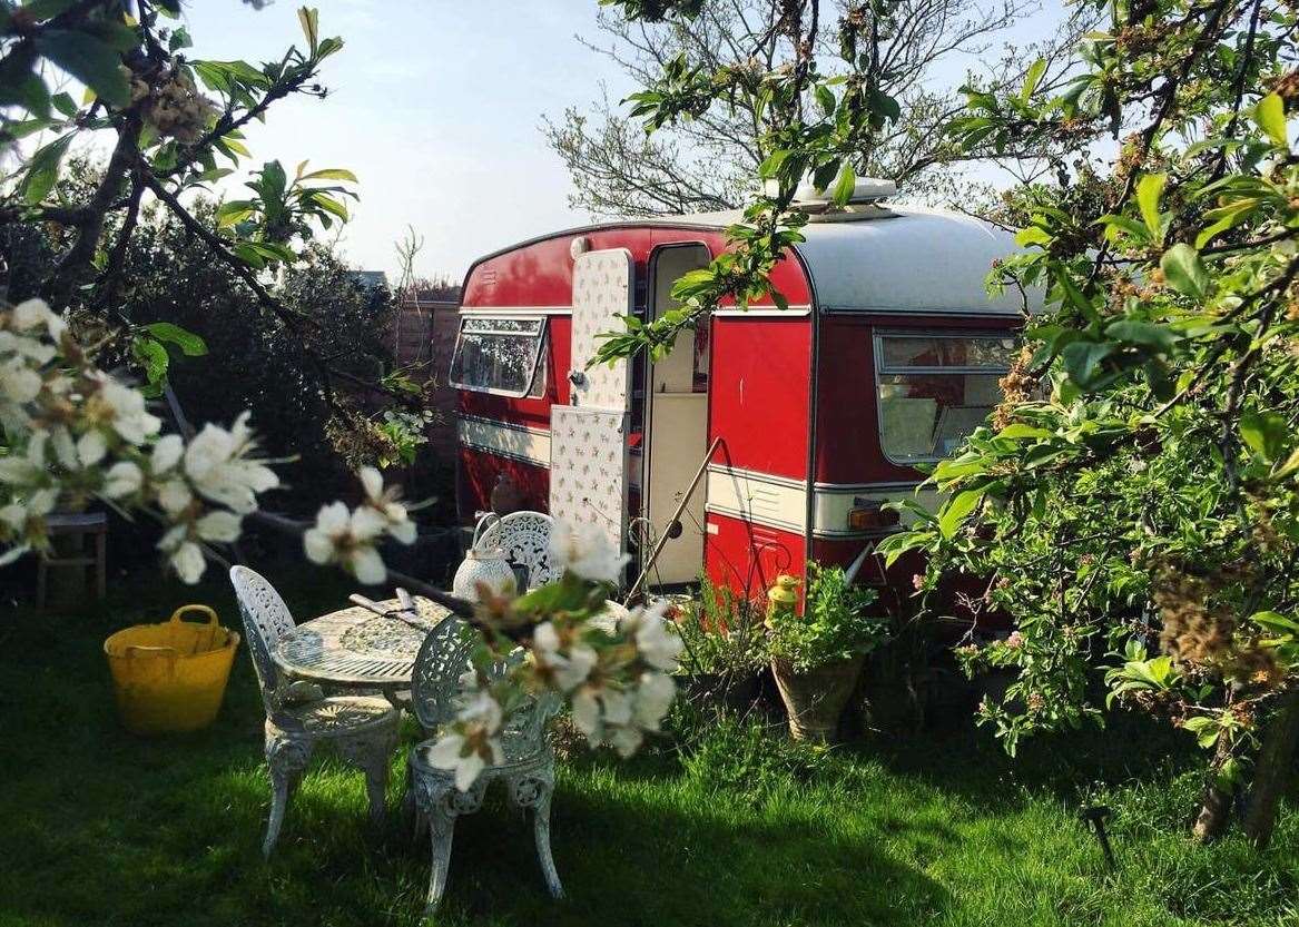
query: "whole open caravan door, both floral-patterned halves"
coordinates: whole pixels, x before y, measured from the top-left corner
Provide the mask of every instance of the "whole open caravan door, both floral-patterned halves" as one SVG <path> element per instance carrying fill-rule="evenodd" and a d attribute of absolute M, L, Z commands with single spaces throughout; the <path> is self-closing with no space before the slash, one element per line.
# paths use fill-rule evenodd
<path fill-rule="evenodd" d="M 573 264 L 572 405 L 551 408 L 551 517 L 594 525 L 626 550 L 630 365 L 587 369 L 600 340 L 631 312 L 631 252 L 579 254 Z"/>

